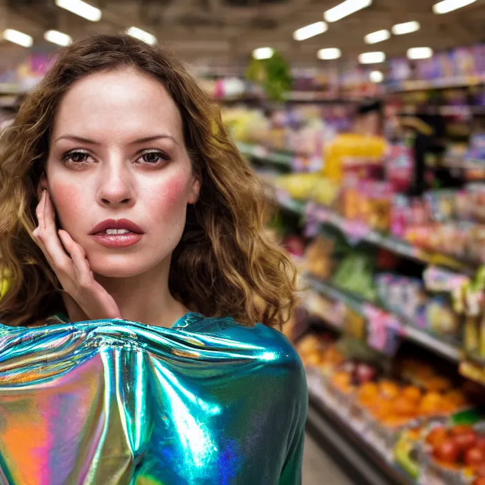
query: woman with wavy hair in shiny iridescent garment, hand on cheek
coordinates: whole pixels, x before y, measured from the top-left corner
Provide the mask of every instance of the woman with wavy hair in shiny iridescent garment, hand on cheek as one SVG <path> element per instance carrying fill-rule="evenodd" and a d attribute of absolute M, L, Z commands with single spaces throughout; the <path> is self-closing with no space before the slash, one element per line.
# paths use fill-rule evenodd
<path fill-rule="evenodd" d="M 271 328 L 294 276 L 263 200 L 176 59 L 60 54 L 0 156 L 6 483 L 300 483 L 305 374 Z"/>

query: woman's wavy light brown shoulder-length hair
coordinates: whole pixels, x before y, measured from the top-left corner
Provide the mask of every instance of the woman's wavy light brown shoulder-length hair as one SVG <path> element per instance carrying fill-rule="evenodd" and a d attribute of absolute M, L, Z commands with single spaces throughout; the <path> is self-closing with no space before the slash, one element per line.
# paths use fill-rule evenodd
<path fill-rule="evenodd" d="M 172 256 L 169 288 L 189 309 L 243 324 L 282 324 L 294 304 L 288 256 L 265 233 L 266 200 L 215 103 L 170 54 L 125 35 L 95 36 L 61 51 L 21 105 L 0 152 L 0 266 L 12 287 L 0 321 L 28 325 L 65 311 L 62 288 L 32 239 L 37 187 L 54 115 L 73 83 L 102 70 L 134 67 L 161 82 L 178 106 L 202 187 Z M 0 275 L 1 276 L 1 275 Z"/>

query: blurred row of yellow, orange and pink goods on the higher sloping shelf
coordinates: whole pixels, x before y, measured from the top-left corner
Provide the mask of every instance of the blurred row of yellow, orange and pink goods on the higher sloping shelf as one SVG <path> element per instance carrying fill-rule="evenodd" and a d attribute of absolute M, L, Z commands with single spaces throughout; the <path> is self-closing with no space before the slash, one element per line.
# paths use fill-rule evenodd
<path fill-rule="evenodd" d="M 274 183 L 279 197 L 286 193 L 310 200 L 342 216 L 351 233 L 378 231 L 425 251 L 485 262 L 483 183 L 433 190 L 422 197 L 400 194 L 391 182 L 371 178 L 347 178 L 338 185 L 318 174 L 289 174 Z M 328 212 L 319 216 L 318 207 L 312 207 L 309 216 L 328 219 Z"/>

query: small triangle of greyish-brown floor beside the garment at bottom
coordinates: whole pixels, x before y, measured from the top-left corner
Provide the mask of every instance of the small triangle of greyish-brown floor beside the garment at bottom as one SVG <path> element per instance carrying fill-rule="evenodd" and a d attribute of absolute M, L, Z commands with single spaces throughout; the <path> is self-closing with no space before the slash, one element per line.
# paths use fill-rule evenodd
<path fill-rule="evenodd" d="M 307 434 L 303 454 L 303 485 L 355 485 Z"/>

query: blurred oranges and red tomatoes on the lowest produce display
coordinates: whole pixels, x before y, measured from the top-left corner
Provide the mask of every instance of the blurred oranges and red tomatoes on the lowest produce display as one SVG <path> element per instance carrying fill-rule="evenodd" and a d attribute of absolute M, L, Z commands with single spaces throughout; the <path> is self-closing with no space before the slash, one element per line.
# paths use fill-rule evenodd
<path fill-rule="evenodd" d="M 432 357 L 402 353 L 389 369 L 389 362 L 356 353 L 348 338 L 336 340 L 312 328 L 296 349 L 311 402 L 338 416 L 340 426 L 403 471 L 409 483 L 482 484 L 482 388 Z"/>

